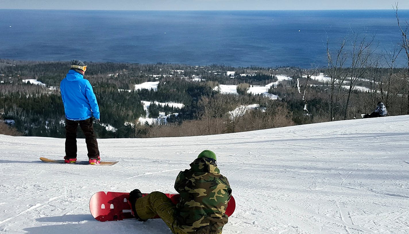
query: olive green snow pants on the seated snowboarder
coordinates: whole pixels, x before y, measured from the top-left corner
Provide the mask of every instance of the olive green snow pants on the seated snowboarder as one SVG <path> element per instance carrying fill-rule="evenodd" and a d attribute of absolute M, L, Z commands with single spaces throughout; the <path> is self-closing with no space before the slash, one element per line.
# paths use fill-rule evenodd
<path fill-rule="evenodd" d="M 186 234 L 178 227 L 178 221 L 176 221 L 175 217 L 176 205 L 162 192 L 151 192 L 142 198 L 138 198 L 135 209 L 139 218 L 149 219 L 158 215 L 173 234 Z"/>

